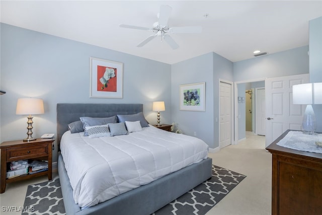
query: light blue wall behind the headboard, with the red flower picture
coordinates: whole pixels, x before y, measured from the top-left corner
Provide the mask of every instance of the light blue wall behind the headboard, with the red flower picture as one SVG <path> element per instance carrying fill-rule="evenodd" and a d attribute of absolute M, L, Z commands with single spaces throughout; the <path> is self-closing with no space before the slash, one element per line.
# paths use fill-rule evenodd
<path fill-rule="evenodd" d="M 108 38 L 107 38 L 108 39 Z M 123 99 L 89 98 L 90 57 L 123 62 Z M 97 46 L 1 24 L 1 141 L 27 137 L 26 116 L 16 115 L 18 98 L 42 98 L 33 136 L 56 133 L 57 103 L 142 103 L 156 123 L 152 102 L 163 100 L 163 123 L 171 123 L 171 65 Z M 56 143 L 55 143 L 56 144 Z M 53 160 L 55 161 L 57 147 Z"/>

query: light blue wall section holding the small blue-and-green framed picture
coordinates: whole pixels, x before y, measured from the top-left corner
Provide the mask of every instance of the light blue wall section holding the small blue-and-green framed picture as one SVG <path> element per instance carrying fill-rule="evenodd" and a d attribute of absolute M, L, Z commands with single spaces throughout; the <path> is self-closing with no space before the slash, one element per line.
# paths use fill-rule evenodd
<path fill-rule="evenodd" d="M 203 139 L 213 148 L 213 64 L 212 53 L 204 54 L 175 63 L 171 66 L 172 120 L 178 123 L 183 133 Z M 180 105 L 180 85 L 205 82 L 206 111 L 182 111 Z"/>

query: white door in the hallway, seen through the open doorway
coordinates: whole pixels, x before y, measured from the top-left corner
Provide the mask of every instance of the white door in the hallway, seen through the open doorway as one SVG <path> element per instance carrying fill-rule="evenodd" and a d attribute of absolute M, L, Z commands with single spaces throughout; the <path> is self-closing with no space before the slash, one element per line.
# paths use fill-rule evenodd
<path fill-rule="evenodd" d="M 256 105 L 256 123 L 255 131 L 257 135 L 266 134 L 266 104 L 265 104 L 265 88 L 256 88 L 255 91 L 255 105 Z"/>

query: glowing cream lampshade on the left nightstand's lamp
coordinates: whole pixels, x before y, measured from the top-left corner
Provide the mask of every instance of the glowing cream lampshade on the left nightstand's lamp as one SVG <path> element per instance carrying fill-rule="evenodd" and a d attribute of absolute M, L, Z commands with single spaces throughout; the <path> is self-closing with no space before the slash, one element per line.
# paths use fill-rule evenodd
<path fill-rule="evenodd" d="M 43 114 L 44 103 L 42 99 L 35 98 L 22 98 L 18 99 L 16 114 L 29 115 L 29 114 Z"/>

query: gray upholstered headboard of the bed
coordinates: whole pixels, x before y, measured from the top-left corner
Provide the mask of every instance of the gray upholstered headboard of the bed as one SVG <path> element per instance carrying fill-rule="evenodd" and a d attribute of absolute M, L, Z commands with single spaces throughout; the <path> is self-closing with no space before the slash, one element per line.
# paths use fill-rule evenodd
<path fill-rule="evenodd" d="M 58 149 L 62 134 L 68 130 L 70 122 L 78 121 L 79 117 L 109 117 L 117 114 L 134 114 L 143 112 L 143 104 L 57 104 L 57 143 Z"/>

